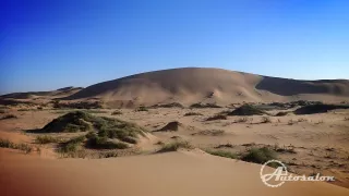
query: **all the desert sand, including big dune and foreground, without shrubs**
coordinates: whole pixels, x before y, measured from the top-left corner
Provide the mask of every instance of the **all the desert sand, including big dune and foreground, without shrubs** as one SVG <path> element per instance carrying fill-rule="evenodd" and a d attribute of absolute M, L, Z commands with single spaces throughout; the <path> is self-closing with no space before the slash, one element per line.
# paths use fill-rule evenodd
<path fill-rule="evenodd" d="M 300 115 L 292 112 L 300 108 L 294 106 L 272 108 L 263 115 L 226 114 L 244 102 L 269 107 L 261 102 L 304 99 L 339 105 L 348 96 L 345 79 L 294 81 L 218 69 L 159 71 L 87 88 L 1 96 L 0 138 L 32 149 L 0 148 L 1 195 L 349 195 L 349 109 Z M 178 106 L 154 107 L 171 102 Z M 214 107 L 189 107 L 192 103 Z M 83 111 L 136 123 L 147 133 L 128 149 L 81 146 L 68 157 L 58 150 L 62 142 L 37 142 L 41 135 L 67 140 L 86 134 L 37 131 L 81 110 L 76 107 L 100 106 Z M 289 113 L 277 115 L 280 111 Z M 5 118 L 9 114 L 14 118 Z M 208 120 L 217 114 L 224 118 Z M 159 152 L 179 140 L 191 147 Z M 289 172 L 333 175 L 336 181 L 267 187 L 260 177 L 261 164 L 240 160 L 261 147 L 274 149 Z M 209 154 L 219 150 L 236 158 Z"/>

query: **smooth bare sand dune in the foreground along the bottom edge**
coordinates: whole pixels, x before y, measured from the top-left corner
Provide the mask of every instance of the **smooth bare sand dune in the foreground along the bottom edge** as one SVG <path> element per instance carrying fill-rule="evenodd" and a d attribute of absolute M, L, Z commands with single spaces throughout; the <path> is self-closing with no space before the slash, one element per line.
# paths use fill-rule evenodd
<path fill-rule="evenodd" d="M 43 160 L 1 149 L 1 193 L 8 195 L 348 195 L 328 183 L 265 186 L 260 166 L 180 151 L 103 160 Z M 96 170 L 96 168 L 98 168 Z"/>

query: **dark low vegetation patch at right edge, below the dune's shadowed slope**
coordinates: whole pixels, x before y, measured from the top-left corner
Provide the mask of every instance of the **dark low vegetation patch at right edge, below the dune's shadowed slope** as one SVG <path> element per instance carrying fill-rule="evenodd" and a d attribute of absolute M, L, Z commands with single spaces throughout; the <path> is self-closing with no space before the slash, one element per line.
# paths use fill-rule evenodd
<path fill-rule="evenodd" d="M 313 114 L 313 113 L 326 113 L 330 110 L 336 109 L 349 109 L 349 105 L 325 105 L 325 103 L 317 103 L 317 105 L 309 105 L 303 106 L 294 111 L 294 114 Z"/>

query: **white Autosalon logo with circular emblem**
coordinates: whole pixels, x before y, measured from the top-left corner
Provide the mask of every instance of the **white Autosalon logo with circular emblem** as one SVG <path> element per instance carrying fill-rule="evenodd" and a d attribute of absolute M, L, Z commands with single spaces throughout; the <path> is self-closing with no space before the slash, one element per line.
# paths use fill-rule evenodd
<path fill-rule="evenodd" d="M 265 171 L 266 166 L 277 166 L 277 168 L 273 173 L 267 173 L 267 171 Z M 260 174 L 262 182 L 269 187 L 279 187 L 287 181 L 335 181 L 334 176 L 321 176 L 320 173 L 311 176 L 289 174 L 286 166 L 278 160 L 265 162 L 261 168 Z"/>

